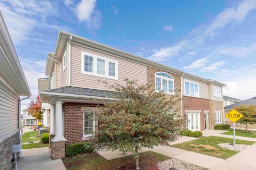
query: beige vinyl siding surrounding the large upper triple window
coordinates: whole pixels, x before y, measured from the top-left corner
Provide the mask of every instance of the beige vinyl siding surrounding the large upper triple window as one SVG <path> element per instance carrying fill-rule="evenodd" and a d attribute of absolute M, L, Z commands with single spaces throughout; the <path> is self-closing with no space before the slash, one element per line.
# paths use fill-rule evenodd
<path fill-rule="evenodd" d="M 101 78 L 93 75 L 81 73 L 81 52 L 92 53 L 118 62 L 118 80 Z M 118 82 L 122 85 L 125 84 L 124 79 L 138 80 L 138 84 L 147 83 L 147 66 L 138 64 L 123 58 L 98 52 L 84 46 L 71 44 L 71 86 L 92 88 L 92 89 L 106 89 L 104 84 L 98 80 L 107 81 L 109 84 Z"/>

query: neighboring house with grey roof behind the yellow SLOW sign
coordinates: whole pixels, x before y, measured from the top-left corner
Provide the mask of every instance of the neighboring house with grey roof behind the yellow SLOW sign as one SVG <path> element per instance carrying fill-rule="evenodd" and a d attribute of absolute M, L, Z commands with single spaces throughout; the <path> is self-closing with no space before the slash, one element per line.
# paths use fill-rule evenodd
<path fill-rule="evenodd" d="M 256 97 L 252 97 L 252 98 L 246 99 L 246 100 L 241 100 L 232 105 L 225 106 L 224 107 L 225 115 L 228 114 L 235 106 L 239 106 L 239 105 L 246 105 L 246 106 L 254 105 L 254 106 L 256 106 Z M 226 116 L 225 116 L 225 124 L 230 124 L 231 126 L 233 126 L 233 122 L 231 122 Z M 240 127 L 245 128 L 245 125 L 240 125 Z M 247 124 L 247 128 L 256 129 L 256 124 L 253 124 L 253 125 Z"/>

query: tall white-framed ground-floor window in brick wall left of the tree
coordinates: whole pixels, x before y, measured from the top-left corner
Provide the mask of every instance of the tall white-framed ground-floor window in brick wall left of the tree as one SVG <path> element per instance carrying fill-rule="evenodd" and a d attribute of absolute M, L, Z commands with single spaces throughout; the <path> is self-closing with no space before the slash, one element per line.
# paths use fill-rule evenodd
<path fill-rule="evenodd" d="M 84 111 L 84 137 L 93 135 L 93 133 L 94 133 L 93 112 Z"/>

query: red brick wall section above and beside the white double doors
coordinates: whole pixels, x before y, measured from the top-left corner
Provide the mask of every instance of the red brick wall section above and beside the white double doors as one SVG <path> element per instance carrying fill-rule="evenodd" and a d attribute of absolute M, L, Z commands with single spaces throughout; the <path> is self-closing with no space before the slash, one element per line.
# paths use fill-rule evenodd
<path fill-rule="evenodd" d="M 209 99 L 182 96 L 183 115 L 186 114 L 186 110 L 201 111 L 200 112 L 200 124 L 201 131 L 205 130 L 204 111 L 209 111 Z M 210 116 L 209 116 L 210 117 Z M 210 120 L 209 120 L 210 123 Z"/>

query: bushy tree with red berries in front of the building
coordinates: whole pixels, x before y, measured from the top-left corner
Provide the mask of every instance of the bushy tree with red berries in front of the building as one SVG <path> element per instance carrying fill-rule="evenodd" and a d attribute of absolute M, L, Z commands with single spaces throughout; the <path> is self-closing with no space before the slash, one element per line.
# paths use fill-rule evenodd
<path fill-rule="evenodd" d="M 95 128 L 94 141 L 99 148 L 132 152 L 136 169 L 139 167 L 139 150 L 156 146 L 171 146 L 178 139 L 184 120 L 177 114 L 177 101 L 166 97 L 164 91 L 156 92 L 152 86 L 138 85 L 125 79 L 126 85 L 114 84 L 111 103 L 95 113 L 100 122 Z M 89 113 L 90 114 L 90 113 Z M 90 115 L 89 115 L 90 116 Z"/>

